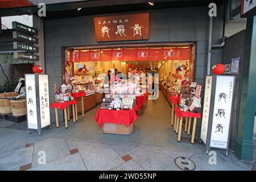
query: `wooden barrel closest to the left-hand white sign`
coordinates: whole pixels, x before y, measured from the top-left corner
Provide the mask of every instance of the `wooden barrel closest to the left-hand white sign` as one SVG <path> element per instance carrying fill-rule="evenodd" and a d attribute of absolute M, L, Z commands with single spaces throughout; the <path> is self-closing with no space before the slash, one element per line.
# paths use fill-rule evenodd
<path fill-rule="evenodd" d="M 20 100 L 10 100 L 11 102 L 11 113 L 14 116 L 26 115 L 27 114 L 27 105 L 26 99 Z"/>

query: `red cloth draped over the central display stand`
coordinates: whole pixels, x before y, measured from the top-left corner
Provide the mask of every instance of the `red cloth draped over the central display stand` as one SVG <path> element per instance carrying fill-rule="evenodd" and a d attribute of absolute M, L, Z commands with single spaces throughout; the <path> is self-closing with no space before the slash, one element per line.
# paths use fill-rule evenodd
<path fill-rule="evenodd" d="M 126 127 L 128 127 L 137 118 L 138 115 L 135 109 L 108 110 L 99 108 L 94 119 L 100 127 L 102 127 L 102 123 L 113 123 L 118 125 L 126 125 Z"/>

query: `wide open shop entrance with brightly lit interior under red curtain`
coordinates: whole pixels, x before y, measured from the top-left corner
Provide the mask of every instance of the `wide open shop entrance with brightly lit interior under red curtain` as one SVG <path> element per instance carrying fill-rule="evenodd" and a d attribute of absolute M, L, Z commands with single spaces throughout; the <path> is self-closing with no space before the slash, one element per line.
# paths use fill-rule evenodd
<path fill-rule="evenodd" d="M 174 144 L 171 142 L 175 139 L 175 133 L 170 127 L 170 96 L 182 81 L 193 81 L 195 68 L 193 44 L 73 47 L 65 49 L 63 62 L 64 84 L 76 86 L 78 90 L 85 90 L 85 118 L 81 119 L 82 123 L 79 125 L 87 138 L 161 146 Z M 98 88 L 106 84 L 105 78 L 108 71 L 114 69 L 127 78 L 130 73 L 138 73 L 138 75 L 144 73 L 147 76 L 147 88 L 150 81 L 154 83 L 151 86 L 158 88 L 158 98 L 148 99 L 139 108 L 140 112 L 137 111 L 138 118 L 133 122 L 133 132 L 130 135 L 102 133 L 102 129 L 94 118 L 98 109 L 102 107 L 102 100 L 106 99 L 106 94 L 98 93 Z M 148 94 L 151 96 L 153 93 Z M 80 105 L 81 98 L 78 98 L 79 114 L 82 113 Z M 79 118 L 81 117 L 80 115 Z M 108 137 L 102 137 L 103 135 Z"/>

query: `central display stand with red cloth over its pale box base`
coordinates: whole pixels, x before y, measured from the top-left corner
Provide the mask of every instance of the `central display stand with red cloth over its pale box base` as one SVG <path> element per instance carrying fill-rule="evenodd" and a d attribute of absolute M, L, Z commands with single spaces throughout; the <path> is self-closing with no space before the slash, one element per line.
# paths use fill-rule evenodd
<path fill-rule="evenodd" d="M 104 133 L 131 134 L 133 122 L 138 118 L 136 111 L 138 107 L 130 110 L 108 110 L 98 109 L 95 120 L 100 127 L 103 126 Z M 104 125 L 106 123 L 106 125 Z"/>

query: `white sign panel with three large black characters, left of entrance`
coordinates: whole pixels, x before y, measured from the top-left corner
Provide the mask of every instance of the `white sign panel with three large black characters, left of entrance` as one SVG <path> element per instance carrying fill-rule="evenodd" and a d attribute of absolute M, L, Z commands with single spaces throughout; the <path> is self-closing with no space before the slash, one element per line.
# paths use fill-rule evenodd
<path fill-rule="evenodd" d="M 35 75 L 25 75 L 28 129 L 38 129 Z"/>

